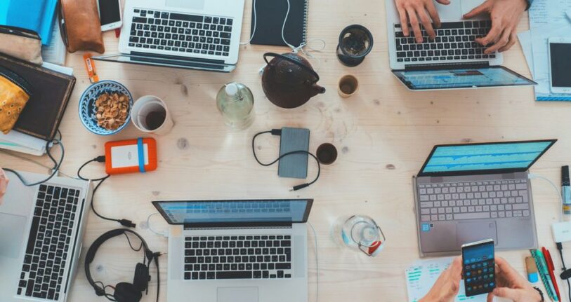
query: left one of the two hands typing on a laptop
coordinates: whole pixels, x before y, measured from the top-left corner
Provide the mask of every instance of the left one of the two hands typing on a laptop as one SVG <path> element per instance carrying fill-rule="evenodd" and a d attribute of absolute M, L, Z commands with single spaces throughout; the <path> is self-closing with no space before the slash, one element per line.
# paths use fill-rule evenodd
<path fill-rule="evenodd" d="M 449 0 L 436 0 L 439 4 L 450 4 Z M 525 1 L 525 0 L 524 0 Z M 436 33 L 432 24 L 436 28 L 440 27 L 440 17 L 434 6 L 433 0 L 395 0 L 398 15 L 400 16 L 400 25 L 402 26 L 402 34 L 409 36 L 410 31 L 408 24 L 412 26 L 416 43 L 422 43 L 422 33 L 420 24 L 428 33 L 431 39 L 434 39 Z M 419 21 L 420 18 L 420 21 Z"/>

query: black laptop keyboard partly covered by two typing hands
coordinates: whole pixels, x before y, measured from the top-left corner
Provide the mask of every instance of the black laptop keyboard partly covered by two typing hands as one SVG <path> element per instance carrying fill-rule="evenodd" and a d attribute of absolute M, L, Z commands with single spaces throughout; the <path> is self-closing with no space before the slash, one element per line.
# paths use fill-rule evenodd
<path fill-rule="evenodd" d="M 490 32 L 491 21 L 442 22 L 435 29 L 434 40 L 428 39 L 428 33 L 421 26 L 424 43 L 416 43 L 414 32 L 405 37 L 400 24 L 395 24 L 395 46 L 397 62 L 433 62 L 450 60 L 489 60 L 497 53 L 484 54 L 488 46 L 482 46 L 475 39 Z M 409 25 L 409 28 L 410 27 Z"/>

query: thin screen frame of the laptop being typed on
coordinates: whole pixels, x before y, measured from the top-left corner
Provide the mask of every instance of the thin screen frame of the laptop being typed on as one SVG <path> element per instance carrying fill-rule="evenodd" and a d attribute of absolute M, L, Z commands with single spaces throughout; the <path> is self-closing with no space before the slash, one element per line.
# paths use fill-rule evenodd
<path fill-rule="evenodd" d="M 439 87 L 439 88 L 415 88 L 412 83 L 409 83 L 408 81 L 405 80 L 404 77 L 400 76 L 398 74 L 398 72 L 403 72 L 403 71 L 421 71 L 422 69 L 415 69 L 414 67 L 410 68 L 410 69 L 399 69 L 399 70 L 393 70 L 393 74 L 399 79 L 399 81 L 401 83 L 403 83 L 405 86 L 407 86 L 407 88 L 409 88 L 409 90 L 413 90 L 413 91 L 422 91 L 422 90 L 454 90 L 454 89 L 467 89 L 467 88 L 494 88 L 494 87 L 516 87 L 516 86 L 528 86 L 528 85 L 537 85 L 537 82 L 530 80 L 530 78 L 526 78 L 525 76 L 522 76 L 521 74 L 518 74 L 516 71 L 513 71 L 511 69 L 508 69 L 506 67 L 503 67 L 501 65 L 499 66 L 480 66 L 480 67 L 474 67 L 473 65 L 458 65 L 457 67 L 454 68 L 442 68 L 442 67 L 438 67 L 435 66 L 434 69 L 426 69 L 426 67 L 424 68 L 424 70 L 456 70 L 456 69 L 482 69 L 482 68 L 499 68 L 499 69 L 504 69 L 505 71 L 508 71 L 510 74 L 513 74 L 514 76 L 518 76 L 518 78 L 521 78 L 525 81 L 527 81 L 527 83 L 525 84 L 506 84 L 506 85 L 465 85 L 465 86 L 454 86 L 454 87 Z"/>

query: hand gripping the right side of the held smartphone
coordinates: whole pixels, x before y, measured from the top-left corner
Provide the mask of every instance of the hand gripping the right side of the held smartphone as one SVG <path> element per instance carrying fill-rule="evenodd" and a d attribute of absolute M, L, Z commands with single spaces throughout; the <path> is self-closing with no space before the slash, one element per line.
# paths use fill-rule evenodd
<path fill-rule="evenodd" d="M 514 302 L 539 302 L 542 297 L 524 277 L 522 277 L 503 258 L 496 257 L 497 287 L 487 295 L 487 302 L 494 301 L 494 296 L 508 298 Z"/>

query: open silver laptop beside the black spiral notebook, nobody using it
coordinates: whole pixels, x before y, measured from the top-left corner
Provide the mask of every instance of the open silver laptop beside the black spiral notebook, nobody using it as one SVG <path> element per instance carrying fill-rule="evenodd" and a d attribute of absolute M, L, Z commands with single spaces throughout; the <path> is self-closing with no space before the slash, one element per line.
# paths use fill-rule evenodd
<path fill-rule="evenodd" d="M 126 0 L 119 54 L 95 60 L 230 72 L 244 0 Z"/>

